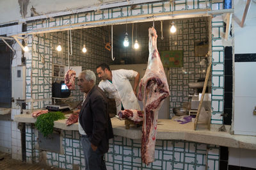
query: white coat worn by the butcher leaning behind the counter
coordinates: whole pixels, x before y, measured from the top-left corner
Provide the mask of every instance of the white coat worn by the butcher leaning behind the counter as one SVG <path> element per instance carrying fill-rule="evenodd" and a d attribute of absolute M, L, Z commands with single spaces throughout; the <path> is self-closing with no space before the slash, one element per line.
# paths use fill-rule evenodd
<path fill-rule="evenodd" d="M 113 70 L 112 83 L 108 80 L 102 80 L 99 88 L 109 93 L 109 98 L 115 98 L 116 112 L 121 110 L 121 101 L 124 109 L 140 109 L 137 97 L 134 95 L 129 78 L 136 77 L 138 72 L 134 70 Z"/>

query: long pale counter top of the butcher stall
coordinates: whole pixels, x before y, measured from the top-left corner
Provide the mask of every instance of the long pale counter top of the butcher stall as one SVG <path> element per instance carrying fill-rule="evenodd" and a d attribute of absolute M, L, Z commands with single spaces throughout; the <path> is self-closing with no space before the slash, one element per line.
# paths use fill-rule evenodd
<path fill-rule="evenodd" d="M 66 116 L 69 116 L 67 114 Z M 23 123 L 35 123 L 36 118 L 31 114 L 19 114 L 14 116 L 14 121 Z M 63 130 L 78 130 L 78 123 L 67 126 L 66 120 L 54 121 L 54 127 Z M 125 129 L 124 120 L 111 118 L 113 132 L 115 135 L 127 137 L 130 139 L 141 139 L 141 127 L 131 126 Z M 221 125 L 211 124 L 211 130 L 202 125 L 198 125 L 198 130 L 193 130 L 194 123 L 179 124 L 173 120 L 158 120 L 157 123 L 157 139 L 175 139 L 184 141 L 193 141 L 196 143 L 215 144 L 227 146 L 231 148 L 244 148 L 256 150 L 256 136 L 251 135 L 231 135 L 229 132 L 218 132 Z M 227 131 L 230 126 L 225 126 Z"/>

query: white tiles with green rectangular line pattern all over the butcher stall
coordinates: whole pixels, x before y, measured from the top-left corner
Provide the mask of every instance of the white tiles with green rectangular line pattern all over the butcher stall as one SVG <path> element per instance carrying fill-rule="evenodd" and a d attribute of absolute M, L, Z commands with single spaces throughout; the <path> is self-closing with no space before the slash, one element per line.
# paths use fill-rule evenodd
<path fill-rule="evenodd" d="M 192 10 L 210 8 L 212 10 L 223 9 L 223 3 L 211 3 L 211 1 L 175 1 L 173 10 Z M 172 3 L 163 1 L 157 3 L 147 3 L 137 5 L 131 10 L 131 6 L 122 6 L 99 10 L 97 12 L 86 12 L 72 14 L 65 17 L 55 17 L 54 19 L 40 20 L 27 24 L 27 30 L 38 29 L 40 27 L 55 27 L 68 24 L 90 22 L 95 20 L 113 19 L 126 16 L 145 15 L 151 13 L 164 13 L 172 11 Z M 200 73 L 199 61 L 202 58 L 195 56 L 195 40 L 206 40 L 207 19 L 186 19 L 177 21 L 177 35 L 170 35 L 170 42 L 157 43 L 159 50 L 184 50 L 184 67 L 170 68 L 170 107 L 178 107 L 182 102 L 188 102 L 189 92 L 188 82 L 195 82 L 203 77 Z M 212 27 L 212 120 L 211 123 L 222 124 L 220 116 L 223 113 L 223 45 L 221 36 L 223 34 L 223 20 L 220 15 L 214 15 L 211 19 Z M 73 56 L 70 58 L 70 65 L 80 65 L 83 70 L 95 71 L 95 66 L 99 63 L 111 63 L 111 56 L 108 52 L 99 51 L 92 54 L 97 49 L 104 48 L 100 40 L 104 35 L 104 30 L 99 27 L 72 31 Z M 88 36 L 92 35 L 92 36 Z M 107 33 L 105 33 L 107 35 Z M 92 38 L 94 37 L 94 38 Z M 96 37 L 96 38 L 95 38 Z M 99 38 L 97 40 L 97 37 Z M 177 39 L 176 39 L 177 38 Z M 81 39 L 83 42 L 81 42 Z M 178 45 L 174 45 L 177 40 Z M 142 39 L 143 41 L 143 39 Z M 61 42 L 62 52 L 56 52 L 56 45 Z M 147 40 L 144 40 L 147 42 Z M 81 43 L 86 43 L 86 47 L 91 53 L 82 54 L 78 49 Z M 52 78 L 52 64 L 68 65 L 67 31 L 60 33 L 47 33 L 42 35 L 29 36 L 29 48 L 31 53 L 26 54 L 26 97 L 38 100 L 28 102 L 27 109 L 38 109 L 51 104 L 51 83 L 60 78 Z M 122 51 L 121 51 L 122 52 Z M 124 52 L 124 55 L 129 55 Z M 138 53 L 140 54 L 140 53 Z M 137 54 L 137 55 L 138 55 Z M 97 55 L 97 58 L 95 58 Z M 184 71 L 186 74 L 184 74 Z M 97 80 L 99 81 L 99 80 Z M 72 91 L 72 96 L 76 100 L 82 100 L 79 89 Z M 170 109 L 170 117 L 173 116 Z M 79 164 L 81 169 L 85 169 L 83 151 L 77 132 L 64 131 L 63 147 L 64 155 L 47 152 L 47 164 L 56 167 L 72 169 L 72 164 Z M 26 124 L 26 157 L 28 162 L 38 161 L 38 150 L 35 149 L 36 135 L 34 128 Z M 191 143 L 188 141 L 157 141 L 155 157 L 156 160 L 150 166 L 141 163 L 140 153 L 141 143 L 138 140 L 127 139 L 125 137 L 115 137 L 109 144 L 109 152 L 105 154 L 108 169 L 218 169 L 220 153 L 218 146 L 208 146 L 207 144 Z M 210 148 L 207 152 L 207 148 Z"/>

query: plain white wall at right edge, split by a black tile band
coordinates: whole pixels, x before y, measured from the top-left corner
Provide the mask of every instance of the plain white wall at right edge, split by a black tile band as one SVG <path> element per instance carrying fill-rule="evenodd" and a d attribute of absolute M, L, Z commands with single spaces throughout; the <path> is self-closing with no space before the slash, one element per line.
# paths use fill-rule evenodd
<path fill-rule="evenodd" d="M 246 1 L 234 1 L 234 15 L 241 20 Z M 233 21 L 234 55 L 256 53 L 256 3 L 252 2 L 244 27 Z M 256 62 L 234 63 L 234 134 L 256 135 Z"/>

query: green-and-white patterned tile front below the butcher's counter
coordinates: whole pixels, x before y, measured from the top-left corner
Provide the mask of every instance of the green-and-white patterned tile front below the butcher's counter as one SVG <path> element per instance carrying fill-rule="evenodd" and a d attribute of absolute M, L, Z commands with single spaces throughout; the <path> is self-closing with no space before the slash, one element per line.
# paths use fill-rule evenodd
<path fill-rule="evenodd" d="M 35 128 L 26 123 L 26 160 L 38 162 Z M 82 145 L 77 131 L 63 130 L 64 154 L 47 151 L 49 166 L 72 169 L 76 164 L 85 169 Z M 105 154 L 107 169 L 219 169 L 220 148 L 211 144 L 179 140 L 157 140 L 155 161 L 146 166 L 141 163 L 140 139 L 115 136 L 109 141 Z"/>

